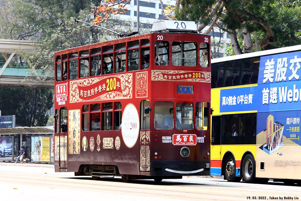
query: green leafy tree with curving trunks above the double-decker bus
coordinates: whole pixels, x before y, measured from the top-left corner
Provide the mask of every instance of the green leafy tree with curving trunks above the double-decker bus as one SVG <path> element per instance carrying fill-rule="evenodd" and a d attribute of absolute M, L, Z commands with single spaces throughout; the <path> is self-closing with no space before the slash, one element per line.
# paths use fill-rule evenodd
<path fill-rule="evenodd" d="M 246 52 L 252 51 L 251 33 L 256 31 L 262 50 L 301 44 L 300 1 L 279 0 L 191 0 L 180 1 L 176 18 L 199 24 L 199 30 L 210 24 L 225 30 L 235 54 L 241 54 L 237 37 L 244 40 Z M 219 23 L 216 23 L 219 22 Z M 237 32 L 243 33 L 239 36 Z"/>

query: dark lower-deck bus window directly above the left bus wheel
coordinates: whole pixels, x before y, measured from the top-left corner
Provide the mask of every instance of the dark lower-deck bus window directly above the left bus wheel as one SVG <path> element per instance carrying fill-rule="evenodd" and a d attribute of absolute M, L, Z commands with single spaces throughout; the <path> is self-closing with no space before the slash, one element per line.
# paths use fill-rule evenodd
<path fill-rule="evenodd" d="M 238 114 L 222 115 L 222 144 L 237 144 Z"/>

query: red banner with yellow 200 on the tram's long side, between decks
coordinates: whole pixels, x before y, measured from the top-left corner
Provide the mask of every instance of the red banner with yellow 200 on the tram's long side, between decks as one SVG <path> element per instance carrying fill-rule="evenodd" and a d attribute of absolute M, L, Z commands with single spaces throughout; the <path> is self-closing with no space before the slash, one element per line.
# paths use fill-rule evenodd
<path fill-rule="evenodd" d="M 70 103 L 132 98 L 133 74 L 70 81 Z"/>

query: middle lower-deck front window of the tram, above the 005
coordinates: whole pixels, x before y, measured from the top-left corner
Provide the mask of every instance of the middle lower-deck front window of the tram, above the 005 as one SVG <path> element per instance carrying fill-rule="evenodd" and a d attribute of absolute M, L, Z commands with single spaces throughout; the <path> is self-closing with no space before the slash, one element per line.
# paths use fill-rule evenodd
<path fill-rule="evenodd" d="M 193 129 L 193 104 L 181 102 L 176 104 L 176 108 L 176 129 Z"/>

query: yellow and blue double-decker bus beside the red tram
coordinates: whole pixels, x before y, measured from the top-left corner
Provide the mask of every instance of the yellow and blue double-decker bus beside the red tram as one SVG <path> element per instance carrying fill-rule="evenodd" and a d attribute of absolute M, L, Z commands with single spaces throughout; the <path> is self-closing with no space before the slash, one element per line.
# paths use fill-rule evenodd
<path fill-rule="evenodd" d="M 301 45 L 211 61 L 211 175 L 300 185 Z"/>

